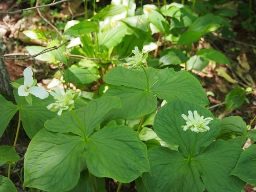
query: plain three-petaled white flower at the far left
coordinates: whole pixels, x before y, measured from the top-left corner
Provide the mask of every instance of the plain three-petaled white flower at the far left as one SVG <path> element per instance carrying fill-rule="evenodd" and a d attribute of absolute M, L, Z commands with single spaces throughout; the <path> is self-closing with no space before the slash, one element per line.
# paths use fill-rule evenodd
<path fill-rule="evenodd" d="M 45 99 L 49 96 L 49 93 L 44 88 L 36 87 L 36 81 L 33 79 L 32 69 L 27 67 L 24 72 L 24 85 L 18 87 L 19 96 L 28 96 L 32 94 L 40 99 Z"/>

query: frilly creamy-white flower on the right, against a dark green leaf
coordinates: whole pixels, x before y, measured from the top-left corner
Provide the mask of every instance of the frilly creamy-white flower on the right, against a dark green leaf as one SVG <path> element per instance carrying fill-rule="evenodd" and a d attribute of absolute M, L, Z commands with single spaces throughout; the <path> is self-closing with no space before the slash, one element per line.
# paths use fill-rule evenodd
<path fill-rule="evenodd" d="M 182 126 L 184 131 L 191 130 L 193 132 L 206 132 L 210 130 L 210 127 L 207 126 L 210 121 L 214 120 L 211 117 L 200 116 L 197 111 L 194 111 L 194 116 L 191 111 L 188 111 L 188 116 L 185 114 L 181 115 L 182 118 L 186 121 L 186 125 Z"/>

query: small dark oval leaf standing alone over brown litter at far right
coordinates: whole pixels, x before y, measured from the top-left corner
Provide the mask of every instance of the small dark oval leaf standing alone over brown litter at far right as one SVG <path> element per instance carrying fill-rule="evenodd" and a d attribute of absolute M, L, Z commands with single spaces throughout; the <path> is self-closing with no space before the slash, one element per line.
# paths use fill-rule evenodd
<path fill-rule="evenodd" d="M 225 104 L 227 110 L 236 110 L 244 103 L 246 99 L 245 90 L 242 88 L 234 88 L 225 97 Z"/>

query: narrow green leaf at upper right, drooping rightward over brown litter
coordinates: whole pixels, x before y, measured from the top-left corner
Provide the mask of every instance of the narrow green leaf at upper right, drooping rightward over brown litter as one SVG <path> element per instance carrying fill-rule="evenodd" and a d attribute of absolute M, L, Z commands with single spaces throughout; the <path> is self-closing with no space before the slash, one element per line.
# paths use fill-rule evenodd
<path fill-rule="evenodd" d="M 206 57 L 207 59 L 216 61 L 218 63 L 230 64 L 229 60 L 223 53 L 214 49 L 201 49 L 197 52 L 197 55 Z"/>

